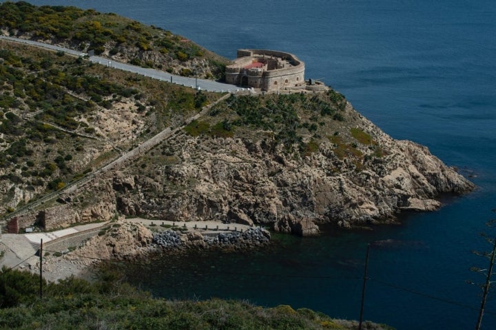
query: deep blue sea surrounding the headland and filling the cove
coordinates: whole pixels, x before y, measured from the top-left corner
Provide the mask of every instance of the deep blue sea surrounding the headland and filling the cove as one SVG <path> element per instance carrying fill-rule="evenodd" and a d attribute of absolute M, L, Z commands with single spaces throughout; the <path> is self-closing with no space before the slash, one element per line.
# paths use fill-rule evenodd
<path fill-rule="evenodd" d="M 494 0 L 30 1 L 115 12 L 185 36 L 227 58 L 238 48 L 283 50 L 306 78 L 342 92 L 396 139 L 428 146 L 470 175 L 475 192 L 401 225 L 280 236 L 265 251 L 195 254 L 130 268 L 134 283 L 168 298 L 247 299 L 358 319 L 371 243 L 364 319 L 397 329 L 475 327 L 488 260 L 480 232 L 496 213 L 496 3 Z M 379 243 L 378 243 L 379 242 Z M 382 242 L 382 243 L 381 243 Z M 494 281 L 496 281 L 496 276 Z M 482 329 L 496 329 L 496 293 Z"/>

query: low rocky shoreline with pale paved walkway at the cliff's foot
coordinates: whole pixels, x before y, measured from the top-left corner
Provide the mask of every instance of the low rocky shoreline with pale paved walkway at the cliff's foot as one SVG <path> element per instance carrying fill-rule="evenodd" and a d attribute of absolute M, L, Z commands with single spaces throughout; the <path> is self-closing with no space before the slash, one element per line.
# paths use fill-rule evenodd
<path fill-rule="evenodd" d="M 81 228 L 87 230 L 89 226 L 92 236 L 83 236 L 79 244 L 68 246 L 76 244 L 74 231 Z M 0 245 L 3 251 L 0 265 L 39 274 L 39 245 L 33 243 L 34 236 L 45 237 L 45 242 L 49 243 L 43 249 L 42 270 L 43 278 L 50 282 L 70 276 L 91 281 L 95 275 L 92 267 L 105 261 L 144 261 L 163 254 L 187 254 L 217 248 L 247 250 L 268 245 L 271 237 L 267 230 L 260 227 L 216 221 L 178 223 L 121 218 L 70 229 L 4 235 Z M 49 236 L 55 239 L 50 240 Z"/>

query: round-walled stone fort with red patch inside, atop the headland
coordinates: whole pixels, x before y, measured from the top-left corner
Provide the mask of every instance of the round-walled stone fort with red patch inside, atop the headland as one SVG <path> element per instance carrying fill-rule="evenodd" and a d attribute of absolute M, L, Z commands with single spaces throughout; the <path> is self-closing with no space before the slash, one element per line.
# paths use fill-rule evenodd
<path fill-rule="evenodd" d="M 226 67 L 226 83 L 262 91 L 304 88 L 304 63 L 285 52 L 238 50 L 234 63 Z"/>

